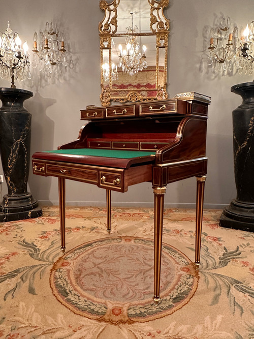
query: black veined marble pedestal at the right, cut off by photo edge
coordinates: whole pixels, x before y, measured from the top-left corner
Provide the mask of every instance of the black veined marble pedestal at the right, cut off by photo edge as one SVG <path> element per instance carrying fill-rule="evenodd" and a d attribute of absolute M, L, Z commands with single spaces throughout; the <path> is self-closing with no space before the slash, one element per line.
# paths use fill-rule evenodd
<path fill-rule="evenodd" d="M 222 227 L 254 232 L 254 82 L 231 87 L 243 102 L 233 111 L 236 199 L 221 214 Z"/>

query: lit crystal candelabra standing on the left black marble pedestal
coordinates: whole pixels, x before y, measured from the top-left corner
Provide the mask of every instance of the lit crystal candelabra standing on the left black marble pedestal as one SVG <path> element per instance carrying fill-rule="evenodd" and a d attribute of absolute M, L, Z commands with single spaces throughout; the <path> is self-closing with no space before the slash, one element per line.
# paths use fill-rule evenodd
<path fill-rule="evenodd" d="M 15 80 L 31 79 L 28 45 L 26 41 L 22 47 L 21 44 L 18 33 L 12 33 L 8 21 L 5 33 L 0 32 L 0 77 L 11 77 L 11 88 L 16 88 Z"/>

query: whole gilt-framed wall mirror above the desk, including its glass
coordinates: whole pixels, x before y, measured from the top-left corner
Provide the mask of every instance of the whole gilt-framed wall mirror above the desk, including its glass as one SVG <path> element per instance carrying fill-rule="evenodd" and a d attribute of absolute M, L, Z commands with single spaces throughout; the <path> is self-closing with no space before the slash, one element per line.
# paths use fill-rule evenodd
<path fill-rule="evenodd" d="M 169 0 L 100 1 L 101 102 L 168 97 Z"/>

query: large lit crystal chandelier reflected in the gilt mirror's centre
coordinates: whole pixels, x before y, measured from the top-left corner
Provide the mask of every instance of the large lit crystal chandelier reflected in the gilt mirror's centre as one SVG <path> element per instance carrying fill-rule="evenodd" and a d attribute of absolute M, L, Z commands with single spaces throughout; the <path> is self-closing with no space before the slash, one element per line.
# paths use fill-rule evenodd
<path fill-rule="evenodd" d="M 129 35 L 135 34 L 138 32 L 139 28 L 137 25 L 133 26 L 133 14 L 132 16 L 132 25 L 126 27 L 127 33 Z M 147 61 L 145 56 L 146 46 L 142 46 L 142 53 L 140 51 L 140 46 L 137 41 L 136 36 L 127 37 L 125 40 L 125 49 L 122 49 L 122 46 L 119 45 L 119 67 L 122 71 L 128 73 L 129 75 L 137 74 L 139 71 L 142 71 L 143 68 L 147 68 Z"/>

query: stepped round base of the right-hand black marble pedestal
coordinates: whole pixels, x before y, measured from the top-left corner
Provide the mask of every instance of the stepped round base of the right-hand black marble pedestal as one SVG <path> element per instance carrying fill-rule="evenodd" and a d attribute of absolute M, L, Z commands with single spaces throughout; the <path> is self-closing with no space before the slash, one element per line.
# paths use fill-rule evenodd
<path fill-rule="evenodd" d="M 254 204 L 233 199 L 230 205 L 224 208 L 219 226 L 254 232 Z"/>

